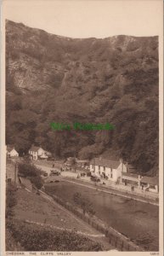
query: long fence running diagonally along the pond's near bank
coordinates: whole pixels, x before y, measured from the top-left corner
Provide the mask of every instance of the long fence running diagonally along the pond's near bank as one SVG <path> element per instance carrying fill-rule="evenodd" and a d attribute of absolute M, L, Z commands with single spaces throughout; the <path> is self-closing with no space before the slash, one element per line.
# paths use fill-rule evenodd
<path fill-rule="evenodd" d="M 48 195 L 51 195 L 47 193 Z M 52 196 L 52 195 L 51 195 Z M 65 203 L 65 201 L 62 201 L 59 197 L 56 195 L 52 196 L 54 198 L 54 201 L 59 203 L 62 207 L 65 207 L 67 210 L 74 213 L 78 218 L 81 218 L 83 221 L 90 224 L 94 229 L 100 231 L 101 233 L 105 234 L 105 236 L 109 239 L 108 241 L 113 247 L 116 247 L 119 251 L 137 251 L 137 252 L 143 252 L 144 249 L 142 247 L 137 246 L 133 241 L 130 241 L 129 238 L 126 236 L 123 236 L 116 230 L 112 228 L 106 228 L 105 224 L 101 224 L 98 220 L 93 220 L 90 216 L 84 215 L 82 212 L 77 210 L 75 207 L 73 207 L 70 203 Z"/>

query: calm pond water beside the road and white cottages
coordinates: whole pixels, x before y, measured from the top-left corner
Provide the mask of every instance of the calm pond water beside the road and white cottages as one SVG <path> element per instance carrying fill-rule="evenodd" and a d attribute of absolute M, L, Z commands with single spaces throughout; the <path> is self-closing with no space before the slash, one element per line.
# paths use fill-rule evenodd
<path fill-rule="evenodd" d="M 147 251 L 158 251 L 158 207 L 117 195 L 105 194 L 66 181 L 48 184 L 47 189 L 52 195 L 58 195 L 72 204 L 74 204 L 73 195 L 76 192 L 81 193 L 92 201 L 95 215 L 107 226 L 118 230 Z"/>

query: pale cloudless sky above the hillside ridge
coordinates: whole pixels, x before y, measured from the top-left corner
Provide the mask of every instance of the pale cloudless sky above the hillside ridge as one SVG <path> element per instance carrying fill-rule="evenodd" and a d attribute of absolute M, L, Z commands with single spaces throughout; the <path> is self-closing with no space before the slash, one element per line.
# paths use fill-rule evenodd
<path fill-rule="evenodd" d="M 4 0 L 3 18 L 70 38 L 159 35 L 162 0 Z"/>

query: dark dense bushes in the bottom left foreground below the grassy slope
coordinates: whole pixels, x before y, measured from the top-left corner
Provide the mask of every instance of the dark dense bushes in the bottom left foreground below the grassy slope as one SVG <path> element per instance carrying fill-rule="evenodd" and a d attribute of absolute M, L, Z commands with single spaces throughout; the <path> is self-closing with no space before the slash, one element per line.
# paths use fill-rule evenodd
<path fill-rule="evenodd" d="M 75 232 L 53 230 L 21 221 L 7 223 L 14 240 L 25 251 L 102 251 L 102 246 Z"/>

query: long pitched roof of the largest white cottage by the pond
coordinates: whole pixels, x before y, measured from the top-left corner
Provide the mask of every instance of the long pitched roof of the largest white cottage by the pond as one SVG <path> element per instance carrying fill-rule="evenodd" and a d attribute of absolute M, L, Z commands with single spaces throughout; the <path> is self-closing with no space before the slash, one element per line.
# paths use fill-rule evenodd
<path fill-rule="evenodd" d="M 108 160 L 105 158 L 95 158 L 94 160 L 91 160 L 90 164 L 95 166 L 105 166 L 105 167 L 117 169 L 118 166 L 120 166 L 120 161 Z"/>

